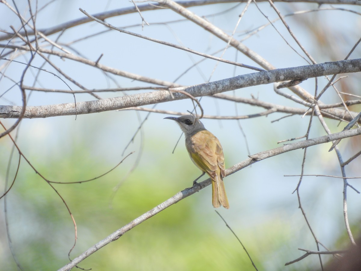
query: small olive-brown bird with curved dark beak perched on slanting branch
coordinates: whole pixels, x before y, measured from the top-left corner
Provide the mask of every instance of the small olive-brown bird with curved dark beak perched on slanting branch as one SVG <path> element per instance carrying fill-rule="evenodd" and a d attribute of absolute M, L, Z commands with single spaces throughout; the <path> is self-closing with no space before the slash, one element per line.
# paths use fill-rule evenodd
<path fill-rule="evenodd" d="M 204 128 L 202 122 L 193 115 L 181 117 L 165 117 L 174 120 L 181 127 L 186 137 L 186 149 L 192 162 L 212 179 L 212 204 L 214 208 L 223 206 L 229 208 L 223 177 L 225 177 L 225 159 L 218 138 Z"/>

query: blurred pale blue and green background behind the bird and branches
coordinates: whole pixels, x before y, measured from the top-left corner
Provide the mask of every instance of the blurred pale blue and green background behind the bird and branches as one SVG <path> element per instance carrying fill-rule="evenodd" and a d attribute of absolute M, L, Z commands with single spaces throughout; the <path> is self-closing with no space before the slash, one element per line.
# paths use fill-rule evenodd
<path fill-rule="evenodd" d="M 29 19 L 28 3 L 14 3 L 20 14 Z M 14 3 L 8 4 L 15 7 Z M 33 10 L 36 9 L 36 4 L 38 9 L 48 4 L 37 13 L 38 30 L 84 17 L 79 8 L 95 14 L 134 7 L 131 1 L 58 0 L 31 2 Z M 137 3 L 143 4 L 145 3 Z M 245 5 L 246 3 L 223 3 L 192 7 L 189 10 L 231 34 Z M 269 3 L 257 5 L 270 20 L 278 18 Z M 360 5 L 318 7 L 316 1 L 310 4 L 276 5 L 284 16 L 292 14 L 286 17 L 287 23 L 318 63 L 344 59 L 360 38 Z M 319 8 L 324 10 L 318 10 Z M 302 12 L 305 10 L 315 11 Z M 115 16 L 106 19 L 106 22 L 121 29 L 208 54 L 225 48 L 226 44 L 222 40 L 171 10 L 142 12 L 142 16 L 149 26 L 142 27 L 139 13 Z M 0 17 L 0 29 L 3 32 L 11 32 L 11 25 L 15 29 L 21 27 L 17 15 L 5 4 L 0 5 Z M 248 37 L 253 30 L 267 23 L 260 10 L 251 3 L 234 37 L 238 40 L 244 39 L 246 46 L 276 68 L 307 65 L 270 25 Z M 287 41 L 297 48 L 282 23 L 276 21 L 274 25 Z M 92 61 L 96 61 L 103 53 L 100 60 L 103 65 L 184 86 L 254 72 L 225 63 L 216 65 L 216 61 L 209 59 L 192 67 L 203 58 L 108 30 L 96 22 L 72 27 L 61 34 L 50 35 L 49 38 L 57 40 L 57 43 L 72 53 Z M 2 40 L 0 44 L 6 42 Z M 42 46 L 41 42 L 39 46 Z M 300 51 L 298 48 L 297 50 Z M 221 53 L 215 55 L 220 57 Z M 27 63 L 29 57 L 29 53 L 16 55 L 16 59 L 23 63 Z M 229 48 L 223 58 L 258 66 L 233 48 Z M 360 58 L 360 48 L 356 48 L 352 53 L 350 59 L 353 58 Z M 99 69 L 69 59 L 55 56 L 50 59 L 87 89 L 151 85 L 112 74 L 105 76 Z M 32 65 L 61 76 L 50 65 L 42 66 L 43 63 L 41 57 L 36 57 Z M 19 81 L 25 65 L 14 62 L 8 64 L 8 61 L 0 60 L 3 68 L 0 104 L 21 105 L 19 87 L 14 86 L 14 81 L 9 78 Z M 191 69 L 184 73 L 188 68 Z M 49 89 L 68 89 L 64 82 L 47 72 L 40 72 L 35 82 L 36 74 L 38 70 L 30 68 L 24 83 Z M 177 79 L 179 76 L 181 77 Z M 360 74 L 348 76 L 336 85 L 343 92 L 360 95 Z M 71 82 L 66 82 L 73 90 L 79 90 L 79 87 Z M 327 81 L 318 78 L 317 83 L 321 90 Z M 301 83 L 301 87 L 314 93 L 315 80 L 308 79 Z M 109 98 L 134 93 L 140 91 L 98 95 Z M 245 98 L 253 96 L 270 103 L 301 107 L 275 94 L 273 85 L 248 87 L 229 94 Z M 95 99 L 89 94 L 76 94 L 75 97 L 77 102 Z M 352 97 L 345 96 L 344 99 L 351 100 Z M 72 94 L 27 91 L 28 106 L 72 102 Z M 200 102 L 206 115 L 249 115 L 264 110 L 212 97 L 203 97 Z M 336 103 L 340 100 L 334 91 L 329 89 L 322 96 L 322 102 Z M 189 99 L 156 105 L 156 109 L 178 112 L 191 111 L 192 108 Z M 360 106 L 351 109 L 359 112 Z M 76 182 L 100 176 L 134 151 L 119 167 L 101 178 L 81 184 L 53 184 L 77 223 L 78 239 L 70 258 L 77 257 L 110 233 L 184 188 L 190 187 L 192 181 L 200 175 L 184 147 L 184 136 L 177 145 L 181 130 L 174 122 L 163 120 L 166 116 L 169 115 L 109 111 L 78 115 L 76 118 L 57 116 L 23 119 L 17 130 L 12 132 L 21 152 L 36 171 L 50 181 Z M 231 167 L 245 160 L 249 154 L 278 147 L 278 141 L 300 137 L 306 133 L 308 116 L 280 119 L 283 116 L 284 114 L 274 113 L 267 117 L 240 121 L 203 119 L 202 122 L 222 143 L 226 167 Z M 136 133 L 144 119 L 147 120 Z M 1 122 L 9 128 L 15 120 L 1 119 Z M 334 120 L 326 122 L 331 132 L 339 132 L 345 126 L 344 123 L 339 124 Z M 314 119 L 310 137 L 325 134 L 322 126 Z M 359 151 L 359 140 L 351 138 L 341 141 L 339 148 L 344 160 Z M 174 147 L 175 151 L 172 153 Z M 341 176 L 335 152 L 328 152 L 330 147 L 331 143 L 308 148 L 304 174 Z M 300 175 L 303 154 L 304 150 L 288 152 L 253 164 L 225 178 L 230 209 L 219 208 L 217 211 L 242 241 L 258 270 L 320 268 L 316 255 L 284 266 L 286 262 L 304 254 L 297 250 L 298 248 L 317 250 L 299 209 L 297 195 L 292 193 L 299 177 L 284 177 Z M 18 152 L 14 150 L 8 136 L 0 139 L 0 158 L 0 185 L 5 191 L 15 177 L 19 159 Z M 357 158 L 347 166 L 348 176 L 361 176 L 360 162 L 360 158 Z M 358 179 L 349 182 L 361 190 Z M 114 189 L 116 187 L 117 190 Z M 309 223 L 318 240 L 330 250 L 343 249 L 349 244 L 343 219 L 342 191 L 342 179 L 329 177 L 304 177 L 300 187 L 301 203 Z M 360 195 L 349 189 L 348 215 L 355 237 L 360 235 L 360 203 Z M 16 261 L 22 270 L 56 270 L 68 263 L 68 252 L 74 244 L 74 225 L 69 212 L 57 193 L 24 159 L 21 160 L 12 189 L 6 198 L 0 200 L 0 205 L 1 270 L 16 270 Z M 332 256 L 322 256 L 323 263 L 331 258 Z M 254 270 L 238 240 L 215 212 L 210 186 L 138 225 L 117 241 L 92 254 L 79 266 L 92 270 Z"/>

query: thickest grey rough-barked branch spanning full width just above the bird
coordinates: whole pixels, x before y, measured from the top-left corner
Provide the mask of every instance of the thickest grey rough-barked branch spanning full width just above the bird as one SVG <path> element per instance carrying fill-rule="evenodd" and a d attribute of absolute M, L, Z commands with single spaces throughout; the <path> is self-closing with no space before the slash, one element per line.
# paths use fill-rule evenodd
<path fill-rule="evenodd" d="M 282 82 L 297 78 L 311 78 L 330 74 L 360 71 L 361 59 L 341 60 L 294 68 L 274 69 L 257 73 L 249 73 L 232 78 L 222 79 L 219 81 L 203 83 L 200 85 L 177 87 L 174 90 L 186 91 L 193 97 L 200 97 L 241 89 L 249 86 Z M 75 113 L 80 115 L 188 98 L 186 95 L 180 93 L 174 93 L 173 96 L 174 97 L 172 98 L 172 95 L 169 91 L 153 91 L 103 100 L 78 102 L 76 107 L 77 111 L 75 111 L 74 103 L 53 104 L 49 106 L 27 106 L 24 118 L 66 116 L 75 115 Z M 21 106 L 0 106 L 0 117 L 18 118 L 21 109 Z M 345 115 L 348 115 L 348 113 L 345 113 Z M 355 116 L 356 115 L 357 114 L 355 114 Z M 355 116 L 352 116 L 352 118 Z"/>

